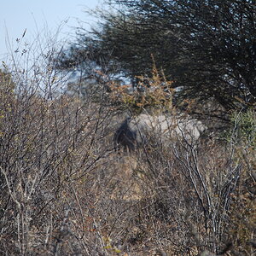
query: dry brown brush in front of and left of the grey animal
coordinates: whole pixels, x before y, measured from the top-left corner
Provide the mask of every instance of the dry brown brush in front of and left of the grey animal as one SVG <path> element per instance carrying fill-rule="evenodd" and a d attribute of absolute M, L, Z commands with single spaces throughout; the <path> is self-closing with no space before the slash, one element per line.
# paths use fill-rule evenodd
<path fill-rule="evenodd" d="M 95 102 L 19 74 L 19 90 L 0 80 L 1 255 L 252 255 L 253 148 L 213 137 L 115 152 L 104 84 Z"/>

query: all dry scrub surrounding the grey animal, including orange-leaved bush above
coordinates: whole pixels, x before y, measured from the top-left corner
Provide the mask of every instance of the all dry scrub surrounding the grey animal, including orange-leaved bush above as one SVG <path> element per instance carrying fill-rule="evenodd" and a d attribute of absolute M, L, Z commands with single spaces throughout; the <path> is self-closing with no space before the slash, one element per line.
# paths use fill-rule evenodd
<path fill-rule="evenodd" d="M 41 46 L 0 73 L 1 255 L 256 253 L 255 102 L 180 101 L 154 55 L 133 93 L 99 64 L 68 84 L 73 67 Z M 145 110 L 208 129 L 199 141 L 152 131 L 154 145 L 114 150 L 125 114 Z"/>

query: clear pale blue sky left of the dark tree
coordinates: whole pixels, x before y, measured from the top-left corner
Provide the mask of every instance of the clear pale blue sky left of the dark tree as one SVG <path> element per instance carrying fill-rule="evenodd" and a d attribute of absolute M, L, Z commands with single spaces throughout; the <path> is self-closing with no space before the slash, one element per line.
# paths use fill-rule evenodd
<path fill-rule="evenodd" d="M 62 24 L 60 37 L 71 37 L 73 26 L 90 27 L 96 19 L 84 10 L 101 7 L 102 0 L 8 0 L 2 1 L 0 9 L 0 61 L 15 49 L 16 38 L 21 38 L 26 30 L 25 39 L 32 40 L 47 26 L 55 32 Z M 66 22 L 64 22 L 66 21 Z M 9 47 L 11 45 L 11 47 Z M 1 64 L 0 64 L 1 65 Z"/>

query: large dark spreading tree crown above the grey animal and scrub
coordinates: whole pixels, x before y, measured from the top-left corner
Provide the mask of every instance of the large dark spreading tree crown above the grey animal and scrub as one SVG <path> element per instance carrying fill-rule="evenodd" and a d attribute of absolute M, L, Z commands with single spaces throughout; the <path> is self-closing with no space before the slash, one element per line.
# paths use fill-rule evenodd
<path fill-rule="evenodd" d="M 151 56 L 181 96 L 213 98 L 226 109 L 256 102 L 256 7 L 250 0 L 113 0 L 90 34 L 62 55 L 60 67 L 84 60 L 135 81 L 148 75 Z M 81 66 L 82 65 L 82 66 Z M 106 68 L 107 67 L 107 68 Z M 119 68 L 117 68 L 119 67 Z"/>

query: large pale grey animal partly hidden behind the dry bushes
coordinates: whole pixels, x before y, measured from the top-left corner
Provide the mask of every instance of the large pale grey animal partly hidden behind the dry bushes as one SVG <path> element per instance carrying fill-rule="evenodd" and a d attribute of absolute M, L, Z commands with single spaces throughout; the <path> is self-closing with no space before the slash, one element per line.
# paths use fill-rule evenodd
<path fill-rule="evenodd" d="M 115 148 L 124 147 L 129 150 L 142 148 L 152 137 L 183 139 L 191 143 L 201 137 L 207 127 L 198 119 L 182 116 L 152 116 L 145 113 L 135 118 L 127 118 L 119 126 L 113 137 Z"/>

